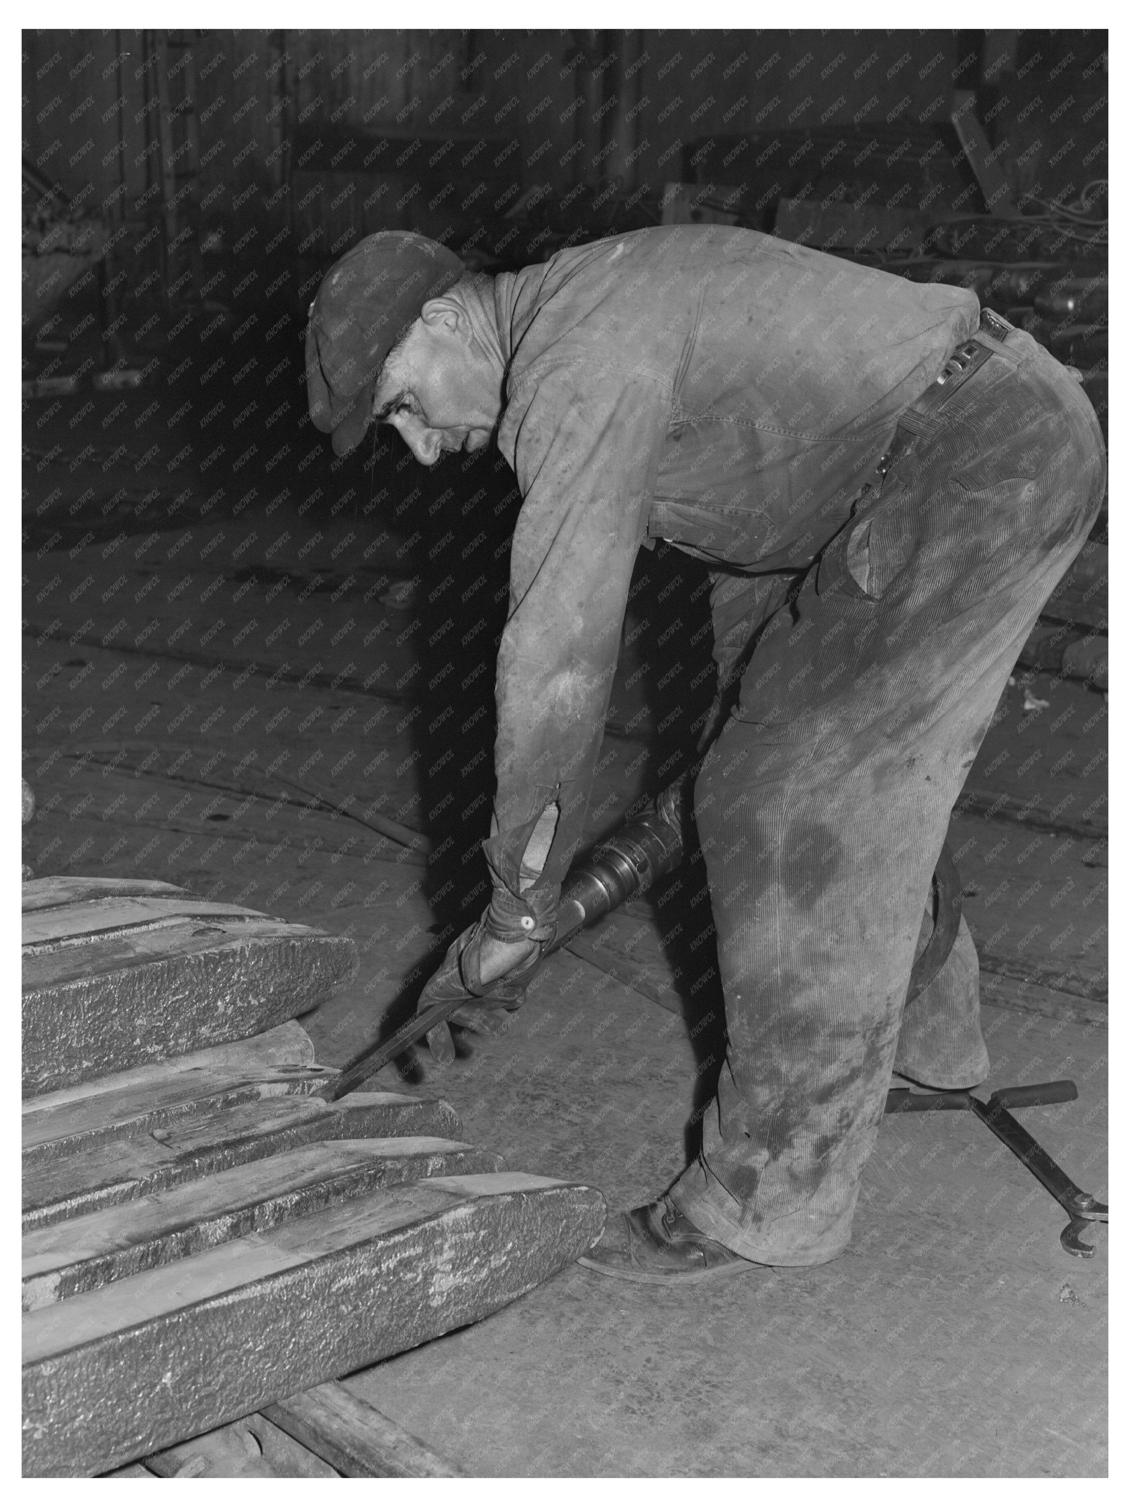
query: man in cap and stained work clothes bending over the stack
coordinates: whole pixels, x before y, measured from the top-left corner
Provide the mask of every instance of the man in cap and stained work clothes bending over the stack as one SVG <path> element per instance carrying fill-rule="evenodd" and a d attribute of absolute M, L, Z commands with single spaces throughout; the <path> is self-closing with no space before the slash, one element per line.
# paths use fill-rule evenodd
<path fill-rule="evenodd" d="M 523 496 L 497 663 L 494 891 L 428 986 L 514 1004 L 577 850 L 636 555 L 713 568 L 735 708 L 695 790 L 728 1052 L 702 1153 L 586 1263 L 698 1281 L 848 1242 L 892 1068 L 985 1078 L 967 933 L 906 1011 L 949 812 L 1106 458 L 1073 375 L 973 294 L 752 231 L 640 231 L 499 277 L 422 237 L 310 307 L 313 422 Z M 922 1002 L 931 1001 L 927 1007 Z M 899 1034 L 901 1032 L 901 1034 Z"/>

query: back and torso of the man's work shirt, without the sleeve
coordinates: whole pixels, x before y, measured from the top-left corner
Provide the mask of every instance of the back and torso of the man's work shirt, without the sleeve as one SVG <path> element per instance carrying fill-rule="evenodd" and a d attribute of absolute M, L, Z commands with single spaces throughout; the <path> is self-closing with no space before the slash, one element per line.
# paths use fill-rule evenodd
<path fill-rule="evenodd" d="M 762 568 L 812 559 L 978 318 L 963 289 L 726 226 L 559 252 L 499 277 L 494 297 L 503 454 L 517 460 L 539 381 L 568 374 L 582 401 L 646 375 L 663 405 L 648 532 Z"/>

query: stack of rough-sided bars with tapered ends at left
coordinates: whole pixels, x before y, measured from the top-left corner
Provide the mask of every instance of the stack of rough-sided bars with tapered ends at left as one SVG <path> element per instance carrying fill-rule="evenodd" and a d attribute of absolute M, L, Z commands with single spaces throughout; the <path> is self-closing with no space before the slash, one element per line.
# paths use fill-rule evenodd
<path fill-rule="evenodd" d="M 443 1474 L 417 1441 L 374 1465 L 392 1426 L 321 1383 L 551 1276 L 601 1195 L 506 1172 L 443 1100 L 331 1102 L 294 1017 L 347 939 L 107 879 L 32 880 L 23 919 L 24 1474 L 181 1474 L 130 1462 L 261 1411 L 341 1474 Z"/>

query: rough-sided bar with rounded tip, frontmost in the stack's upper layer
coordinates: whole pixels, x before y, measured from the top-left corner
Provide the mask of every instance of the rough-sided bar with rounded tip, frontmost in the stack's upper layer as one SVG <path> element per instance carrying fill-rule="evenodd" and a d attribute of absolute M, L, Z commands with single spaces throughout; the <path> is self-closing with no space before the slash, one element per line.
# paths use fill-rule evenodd
<path fill-rule="evenodd" d="M 267 1031 L 356 971 L 347 937 L 253 919 L 33 951 L 23 969 L 24 1097 Z"/>

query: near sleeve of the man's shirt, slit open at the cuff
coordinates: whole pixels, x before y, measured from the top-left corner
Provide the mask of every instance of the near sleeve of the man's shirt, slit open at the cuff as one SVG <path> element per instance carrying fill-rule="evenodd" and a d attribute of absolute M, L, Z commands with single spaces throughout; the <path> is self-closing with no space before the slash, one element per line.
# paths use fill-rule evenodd
<path fill-rule="evenodd" d="M 530 882 L 518 873 L 523 853 L 554 802 L 539 889 L 560 885 L 580 845 L 669 411 L 657 377 L 594 363 L 530 374 L 517 411 L 514 398 L 508 405 L 500 439 L 511 436 L 523 505 L 499 643 L 497 793 L 484 848 L 496 883 L 515 895 L 520 877 Z"/>

